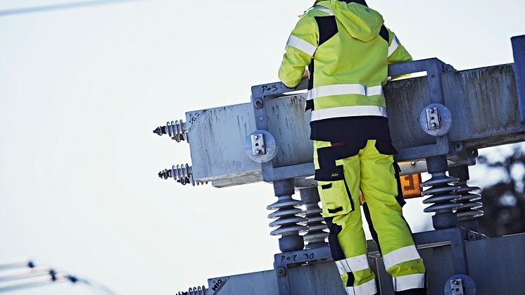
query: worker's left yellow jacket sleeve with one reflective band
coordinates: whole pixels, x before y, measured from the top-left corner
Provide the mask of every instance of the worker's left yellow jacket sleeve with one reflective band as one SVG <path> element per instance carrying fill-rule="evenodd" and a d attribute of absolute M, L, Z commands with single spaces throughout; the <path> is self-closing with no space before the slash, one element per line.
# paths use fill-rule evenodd
<path fill-rule="evenodd" d="M 306 13 L 298 21 L 286 43 L 286 53 L 279 68 L 279 80 L 286 87 L 294 88 L 305 73 L 305 66 L 310 64 L 317 44 L 319 44 L 319 29 L 315 18 Z"/>

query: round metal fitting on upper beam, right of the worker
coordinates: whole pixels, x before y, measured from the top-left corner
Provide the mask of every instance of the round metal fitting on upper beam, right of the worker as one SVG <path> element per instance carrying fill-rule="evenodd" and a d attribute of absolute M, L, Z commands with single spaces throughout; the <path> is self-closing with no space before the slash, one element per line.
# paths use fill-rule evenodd
<path fill-rule="evenodd" d="M 452 128 L 452 114 L 446 106 L 431 103 L 419 115 L 419 125 L 426 134 L 440 137 Z"/>

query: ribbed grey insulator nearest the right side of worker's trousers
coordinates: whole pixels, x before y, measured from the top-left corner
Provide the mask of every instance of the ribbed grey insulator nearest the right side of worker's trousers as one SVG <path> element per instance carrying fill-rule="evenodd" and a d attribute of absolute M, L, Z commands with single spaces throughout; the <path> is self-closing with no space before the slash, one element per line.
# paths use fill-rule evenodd
<path fill-rule="evenodd" d="M 461 189 L 455 183 L 460 179 L 449 177 L 443 172 L 433 172 L 430 180 L 423 182 L 422 187 L 430 187 L 423 192 L 423 196 L 430 196 L 423 203 L 433 205 L 424 209 L 426 213 L 436 213 L 432 216 L 436 230 L 457 225 L 456 211 L 462 208 L 462 203 L 455 203 L 461 199 L 457 192 Z"/>

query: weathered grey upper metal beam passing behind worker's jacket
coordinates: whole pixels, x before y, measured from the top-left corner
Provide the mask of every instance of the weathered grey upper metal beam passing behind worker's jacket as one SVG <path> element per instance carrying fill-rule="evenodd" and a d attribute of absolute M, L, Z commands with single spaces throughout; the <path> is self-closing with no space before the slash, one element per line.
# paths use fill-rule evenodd
<path fill-rule="evenodd" d="M 512 65 L 447 72 L 441 77 L 444 104 L 453 118 L 451 143 L 478 149 L 525 139 Z M 436 144 L 436 138 L 419 127 L 419 115 L 430 101 L 428 79 L 389 82 L 385 95 L 393 144 L 400 151 L 396 160 L 415 160 L 403 149 Z M 274 168 L 303 164 L 313 174 L 304 103 L 304 94 L 265 101 L 267 129 L 278 145 Z M 243 103 L 186 113 L 195 180 L 213 181 L 217 187 L 262 181 L 261 165 L 251 161 L 243 148 L 248 134 L 257 130 L 253 112 L 253 103 Z"/>

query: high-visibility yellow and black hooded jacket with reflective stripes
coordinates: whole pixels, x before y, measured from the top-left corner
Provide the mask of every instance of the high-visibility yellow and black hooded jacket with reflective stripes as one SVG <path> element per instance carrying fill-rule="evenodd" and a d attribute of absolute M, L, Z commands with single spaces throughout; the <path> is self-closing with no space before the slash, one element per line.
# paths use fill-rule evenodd
<path fill-rule="evenodd" d="M 383 23 L 367 6 L 320 1 L 291 32 L 279 79 L 296 87 L 308 65 L 311 139 L 390 141 L 382 88 L 387 67 L 412 57 Z M 341 134 L 341 127 L 350 130 Z"/>

